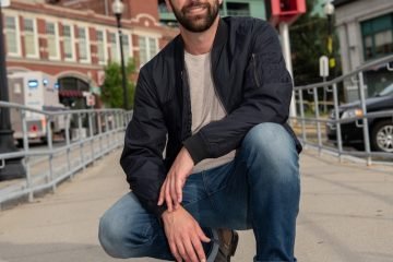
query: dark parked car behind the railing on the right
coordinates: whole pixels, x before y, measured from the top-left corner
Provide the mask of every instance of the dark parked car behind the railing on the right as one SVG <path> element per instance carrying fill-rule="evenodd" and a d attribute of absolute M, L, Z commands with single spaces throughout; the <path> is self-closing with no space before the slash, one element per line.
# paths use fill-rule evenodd
<path fill-rule="evenodd" d="M 367 112 L 383 110 L 393 110 L 393 83 L 384 87 L 381 92 L 366 99 Z M 362 117 L 360 100 L 345 104 L 338 107 L 341 119 Z M 335 119 L 334 110 L 330 114 L 330 119 Z M 343 145 L 364 148 L 362 120 L 354 120 L 348 123 L 342 123 Z M 393 115 L 388 117 L 369 117 L 369 138 L 372 151 L 382 151 L 393 153 Z M 336 124 L 326 123 L 326 135 L 330 141 L 336 143 Z"/>

